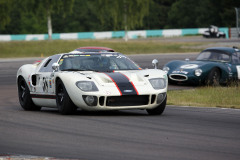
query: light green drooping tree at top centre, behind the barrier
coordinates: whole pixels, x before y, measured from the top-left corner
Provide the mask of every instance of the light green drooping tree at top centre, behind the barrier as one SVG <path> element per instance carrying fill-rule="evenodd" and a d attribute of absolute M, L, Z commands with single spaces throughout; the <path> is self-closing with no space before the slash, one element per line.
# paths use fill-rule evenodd
<path fill-rule="evenodd" d="M 135 29 L 149 13 L 149 0 L 97 0 L 97 18 L 103 30 Z"/>

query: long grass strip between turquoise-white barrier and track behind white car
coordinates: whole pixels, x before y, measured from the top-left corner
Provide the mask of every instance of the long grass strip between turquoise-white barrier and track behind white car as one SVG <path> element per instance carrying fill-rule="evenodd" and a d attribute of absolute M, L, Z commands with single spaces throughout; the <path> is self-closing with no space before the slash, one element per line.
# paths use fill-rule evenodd
<path fill-rule="evenodd" d="M 203 42 L 165 42 L 156 40 L 52 40 L 0 42 L 0 58 L 40 57 L 65 53 L 82 46 L 103 46 L 124 54 L 199 52 Z"/>

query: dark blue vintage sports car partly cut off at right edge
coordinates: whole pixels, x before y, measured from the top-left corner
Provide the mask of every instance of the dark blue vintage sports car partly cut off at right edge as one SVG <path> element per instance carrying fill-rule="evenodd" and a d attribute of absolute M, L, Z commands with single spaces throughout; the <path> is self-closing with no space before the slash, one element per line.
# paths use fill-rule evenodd
<path fill-rule="evenodd" d="M 207 48 L 195 61 L 170 61 L 163 70 L 172 84 L 226 84 L 240 80 L 240 50 L 237 47 Z"/>

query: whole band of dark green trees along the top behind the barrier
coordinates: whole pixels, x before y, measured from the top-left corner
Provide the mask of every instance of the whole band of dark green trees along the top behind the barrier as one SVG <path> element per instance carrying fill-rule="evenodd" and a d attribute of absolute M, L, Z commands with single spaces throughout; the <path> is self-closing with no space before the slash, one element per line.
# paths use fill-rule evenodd
<path fill-rule="evenodd" d="M 239 0 L 0 0 L 0 34 L 235 27 Z"/>

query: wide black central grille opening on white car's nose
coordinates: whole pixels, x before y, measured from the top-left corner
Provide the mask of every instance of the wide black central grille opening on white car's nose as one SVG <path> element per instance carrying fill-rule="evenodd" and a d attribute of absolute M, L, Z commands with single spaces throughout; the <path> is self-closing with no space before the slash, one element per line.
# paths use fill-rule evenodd
<path fill-rule="evenodd" d="M 107 97 L 106 106 L 140 106 L 147 105 L 149 95 L 124 95 Z"/>

